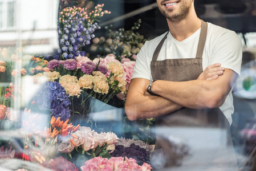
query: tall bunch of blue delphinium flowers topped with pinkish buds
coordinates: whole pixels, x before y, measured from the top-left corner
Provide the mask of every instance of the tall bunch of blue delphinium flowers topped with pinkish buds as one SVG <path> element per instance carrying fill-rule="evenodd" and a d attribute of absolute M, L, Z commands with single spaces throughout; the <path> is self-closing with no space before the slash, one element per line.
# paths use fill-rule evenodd
<path fill-rule="evenodd" d="M 81 7 L 67 7 L 59 12 L 58 34 L 60 44 L 59 60 L 75 59 L 76 56 L 84 56 L 86 52 L 81 48 L 90 44 L 90 40 L 95 37 L 95 30 L 100 29 L 96 21 L 110 11 L 103 11 L 102 5 L 95 6 L 91 13 Z M 56 58 L 56 55 L 54 55 Z"/>

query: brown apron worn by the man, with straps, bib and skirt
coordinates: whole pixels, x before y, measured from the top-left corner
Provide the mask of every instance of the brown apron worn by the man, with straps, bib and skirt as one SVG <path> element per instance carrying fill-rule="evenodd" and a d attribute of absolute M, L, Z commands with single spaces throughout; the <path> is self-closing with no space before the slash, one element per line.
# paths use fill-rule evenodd
<path fill-rule="evenodd" d="M 152 78 L 173 82 L 196 80 L 203 71 L 207 27 L 202 21 L 196 58 L 157 61 L 168 32 L 153 54 Z M 182 108 L 157 117 L 155 133 L 153 170 L 237 170 L 229 122 L 219 108 Z"/>

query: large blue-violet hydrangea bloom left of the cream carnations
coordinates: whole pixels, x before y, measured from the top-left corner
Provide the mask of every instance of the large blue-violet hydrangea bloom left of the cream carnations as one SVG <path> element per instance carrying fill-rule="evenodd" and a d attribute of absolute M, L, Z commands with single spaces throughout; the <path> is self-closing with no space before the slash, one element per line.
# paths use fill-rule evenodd
<path fill-rule="evenodd" d="M 71 101 L 66 91 L 58 82 L 46 82 L 35 96 L 36 104 L 41 110 L 50 110 L 51 115 L 66 121 L 70 117 L 68 107 Z"/>

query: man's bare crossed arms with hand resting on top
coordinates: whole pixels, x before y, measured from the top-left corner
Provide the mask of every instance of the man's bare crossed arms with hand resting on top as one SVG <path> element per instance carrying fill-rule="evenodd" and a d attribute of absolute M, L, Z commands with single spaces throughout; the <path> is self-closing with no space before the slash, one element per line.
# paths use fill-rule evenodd
<path fill-rule="evenodd" d="M 129 120 L 158 117 L 186 108 L 220 107 L 233 87 L 237 74 L 225 69 L 220 63 L 208 66 L 197 80 L 188 82 L 169 82 L 157 80 L 152 84 L 149 95 L 145 89 L 149 80 L 131 80 L 125 102 L 125 112 Z"/>

